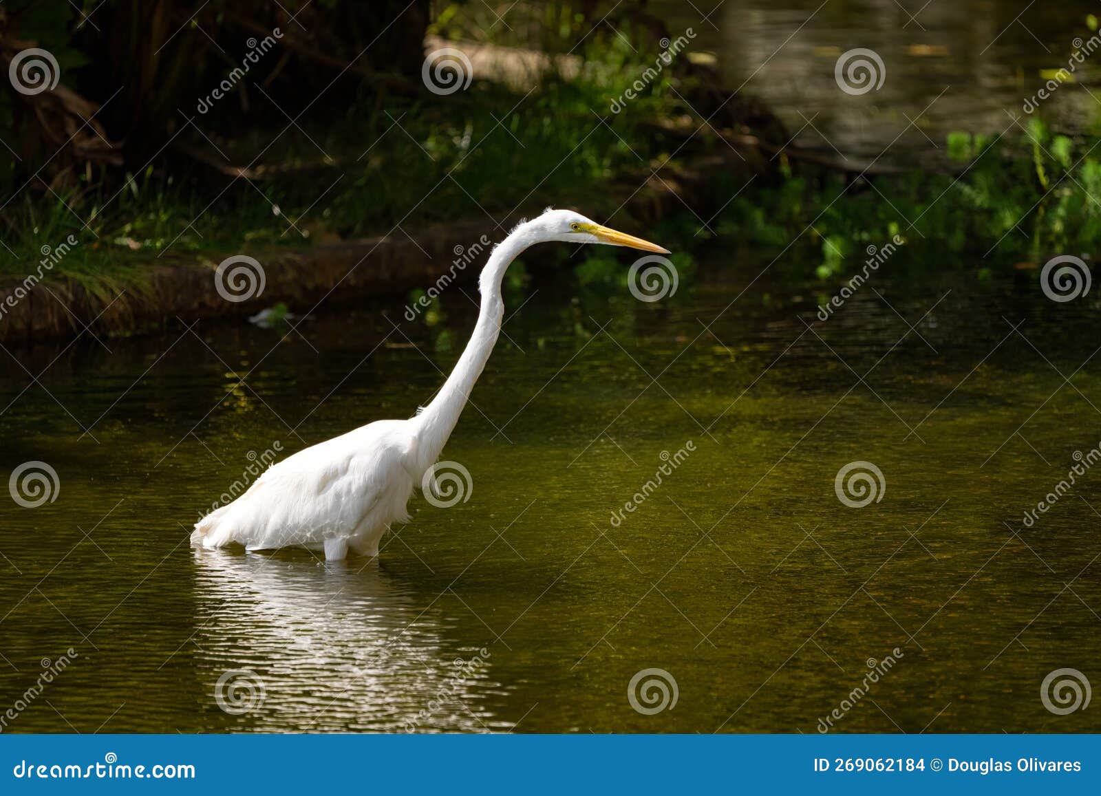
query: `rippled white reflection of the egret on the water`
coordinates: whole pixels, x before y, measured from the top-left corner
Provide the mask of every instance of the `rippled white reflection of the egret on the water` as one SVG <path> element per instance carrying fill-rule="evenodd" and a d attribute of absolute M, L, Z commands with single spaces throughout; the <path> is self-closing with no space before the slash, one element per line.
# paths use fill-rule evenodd
<path fill-rule="evenodd" d="M 305 552 L 195 550 L 212 730 L 487 732 L 492 653 L 447 636 L 421 592 L 375 564 Z"/>

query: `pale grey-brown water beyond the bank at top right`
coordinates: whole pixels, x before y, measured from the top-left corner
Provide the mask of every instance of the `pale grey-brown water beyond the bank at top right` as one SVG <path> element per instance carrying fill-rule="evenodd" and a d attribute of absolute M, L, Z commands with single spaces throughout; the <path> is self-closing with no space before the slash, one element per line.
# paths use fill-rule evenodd
<path fill-rule="evenodd" d="M 713 52 L 729 87 L 765 99 L 799 145 L 859 163 L 882 155 L 881 164 L 928 164 L 953 130 L 1020 134 L 1013 118 L 1027 118 L 1026 98 L 1048 73 L 1067 67 L 1092 35 L 1087 14 L 1098 13 L 1092 0 L 653 6 L 674 35 L 691 28 L 691 48 Z M 854 48 L 879 56 L 877 89 L 852 95 L 838 88 L 835 65 Z M 1064 131 L 1089 129 L 1101 111 L 1101 52 L 1087 50 L 1075 81 L 1039 102 Z"/>

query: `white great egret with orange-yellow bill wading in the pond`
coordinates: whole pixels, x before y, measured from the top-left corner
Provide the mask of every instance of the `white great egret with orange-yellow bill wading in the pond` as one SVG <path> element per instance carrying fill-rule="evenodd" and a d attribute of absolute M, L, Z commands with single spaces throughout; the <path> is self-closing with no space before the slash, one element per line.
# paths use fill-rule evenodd
<path fill-rule="evenodd" d="M 527 247 L 545 241 L 609 243 L 668 254 L 667 249 L 602 227 L 570 210 L 522 221 L 493 248 L 480 276 L 478 323 L 436 397 L 406 421 L 377 421 L 299 450 L 273 465 L 232 503 L 195 524 L 192 544 L 247 549 L 307 547 L 339 560 L 349 548 L 375 556 L 405 504 L 444 450 L 501 331 L 501 280 Z"/>

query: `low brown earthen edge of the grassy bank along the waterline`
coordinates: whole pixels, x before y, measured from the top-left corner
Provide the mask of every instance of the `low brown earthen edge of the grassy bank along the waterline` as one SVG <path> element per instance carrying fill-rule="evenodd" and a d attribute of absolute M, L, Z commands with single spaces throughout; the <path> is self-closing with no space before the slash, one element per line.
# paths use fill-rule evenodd
<path fill-rule="evenodd" d="M 731 151 L 726 156 L 700 160 L 690 171 L 657 173 L 639 188 L 629 190 L 609 182 L 599 206 L 577 209 L 600 218 L 614 214 L 610 222 L 622 219 L 623 229 L 637 232 L 678 212 L 710 214 L 715 210 L 710 192 L 715 173 L 748 179 L 752 160 Z M 533 206 L 528 215 L 541 209 Z M 279 304 L 301 316 L 321 303 L 347 305 L 403 295 L 418 287 L 427 290 L 445 276 L 470 282 L 492 243 L 521 218 L 522 214 L 515 212 L 498 226 L 482 216 L 310 247 L 258 247 L 227 251 L 218 261 L 209 257 L 150 257 L 148 262 L 131 265 L 141 274 L 140 281 L 120 281 L 113 292 L 101 286 L 89 288 L 72 276 L 41 279 L 45 274 L 40 266 L 37 276 L 32 277 L 36 283 L 30 287 L 26 279 L 0 281 L 0 341 L 65 338 L 86 329 L 133 335 L 199 318 L 252 316 Z M 63 243 L 69 249 L 78 246 Z M 59 250 L 44 255 L 44 261 L 56 259 Z M 68 253 L 64 251 L 62 258 Z M 525 259 L 539 257 L 534 251 Z M 219 274 L 219 264 L 227 260 L 230 262 Z M 235 265 L 243 269 L 237 276 L 232 274 Z"/>

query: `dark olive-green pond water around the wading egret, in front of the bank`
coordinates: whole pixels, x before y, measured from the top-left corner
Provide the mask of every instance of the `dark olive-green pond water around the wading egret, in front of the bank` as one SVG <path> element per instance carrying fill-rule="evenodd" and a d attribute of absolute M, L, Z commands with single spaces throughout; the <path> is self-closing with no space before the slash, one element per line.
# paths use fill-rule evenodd
<path fill-rule="evenodd" d="M 469 334 L 458 288 L 434 326 L 393 299 L 6 347 L 4 472 L 57 486 L 0 504 L 3 731 L 1101 729 L 1040 697 L 1101 683 L 1101 467 L 1022 523 L 1101 440 L 1095 294 L 884 268 L 824 321 L 766 263 L 653 304 L 535 272 L 445 450 L 467 500 L 414 498 L 379 561 L 188 534 L 276 443 L 408 416 Z M 850 462 L 882 473 L 863 508 Z M 646 669 L 675 705 L 633 707 Z"/>

